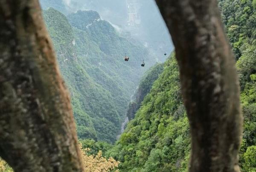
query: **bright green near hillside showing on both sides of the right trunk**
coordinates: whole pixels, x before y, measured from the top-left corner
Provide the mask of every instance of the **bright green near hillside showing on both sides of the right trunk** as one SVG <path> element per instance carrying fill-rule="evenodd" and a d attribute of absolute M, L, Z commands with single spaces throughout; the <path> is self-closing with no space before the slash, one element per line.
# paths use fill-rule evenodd
<path fill-rule="evenodd" d="M 256 172 L 256 0 L 220 0 L 219 6 L 241 83 L 244 132 L 239 166 L 242 172 Z M 185 172 L 189 152 L 189 122 L 172 54 L 107 155 L 121 161 L 121 172 Z"/>

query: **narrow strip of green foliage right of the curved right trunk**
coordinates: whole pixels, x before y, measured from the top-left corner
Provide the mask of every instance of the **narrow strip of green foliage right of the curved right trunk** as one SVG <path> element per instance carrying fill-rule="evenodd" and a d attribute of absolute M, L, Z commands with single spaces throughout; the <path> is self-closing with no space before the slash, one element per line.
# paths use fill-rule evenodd
<path fill-rule="evenodd" d="M 256 171 L 255 166 L 248 163 L 248 156 L 251 153 L 249 148 L 256 145 L 256 10 L 254 3 L 252 0 L 242 0 L 231 4 L 236 6 L 236 11 L 232 14 L 236 16 L 236 20 L 233 21 L 236 23 L 236 31 L 231 29 L 228 32 L 234 52 L 239 52 L 236 53 L 238 59 L 236 66 L 239 72 L 244 115 L 239 165 L 243 172 Z M 227 23 L 227 28 L 234 28 L 234 26 L 229 27 Z M 238 35 L 239 38 L 236 38 Z"/>

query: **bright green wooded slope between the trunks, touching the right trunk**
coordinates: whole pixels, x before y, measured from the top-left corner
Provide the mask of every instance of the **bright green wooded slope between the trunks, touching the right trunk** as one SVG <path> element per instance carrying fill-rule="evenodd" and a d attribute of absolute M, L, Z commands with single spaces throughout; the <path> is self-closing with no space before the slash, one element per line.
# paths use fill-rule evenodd
<path fill-rule="evenodd" d="M 179 85 L 177 62 L 172 54 L 134 120 L 107 152 L 121 161 L 120 171 L 186 170 L 190 148 L 189 122 Z"/>

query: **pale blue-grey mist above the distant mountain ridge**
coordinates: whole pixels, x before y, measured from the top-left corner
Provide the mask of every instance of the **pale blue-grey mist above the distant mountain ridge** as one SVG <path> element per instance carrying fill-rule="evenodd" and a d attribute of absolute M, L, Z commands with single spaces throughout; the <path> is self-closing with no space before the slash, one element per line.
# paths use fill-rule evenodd
<path fill-rule="evenodd" d="M 129 23 L 129 3 L 136 4 L 132 12 L 137 20 L 133 23 Z M 156 58 L 173 51 L 171 37 L 154 0 L 41 0 L 41 5 L 66 15 L 78 10 L 97 11 L 123 37 L 143 43 Z"/>

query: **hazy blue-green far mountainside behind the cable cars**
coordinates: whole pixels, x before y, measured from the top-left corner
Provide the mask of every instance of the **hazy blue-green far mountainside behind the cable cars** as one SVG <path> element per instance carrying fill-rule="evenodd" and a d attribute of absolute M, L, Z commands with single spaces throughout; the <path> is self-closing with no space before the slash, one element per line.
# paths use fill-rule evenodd
<path fill-rule="evenodd" d="M 145 70 L 140 63 L 144 57 L 150 66 L 153 58 L 143 46 L 119 37 L 96 11 L 66 17 L 49 8 L 44 20 L 71 92 L 79 138 L 113 143 Z M 130 57 L 128 63 L 123 59 L 125 53 Z"/>

